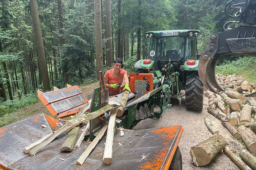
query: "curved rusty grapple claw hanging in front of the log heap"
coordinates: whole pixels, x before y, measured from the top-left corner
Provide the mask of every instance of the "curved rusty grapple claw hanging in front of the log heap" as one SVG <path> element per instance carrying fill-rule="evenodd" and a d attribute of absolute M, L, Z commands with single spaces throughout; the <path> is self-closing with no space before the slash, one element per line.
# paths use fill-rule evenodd
<path fill-rule="evenodd" d="M 225 91 L 219 86 L 215 78 L 215 66 L 219 59 L 219 55 L 215 55 L 218 50 L 218 35 L 213 34 L 210 38 L 208 48 L 206 48 L 200 59 L 198 65 L 198 74 L 199 77 L 206 88 L 214 93 L 218 93 L 217 89 L 220 91 Z M 214 88 L 215 87 L 215 88 Z"/>

